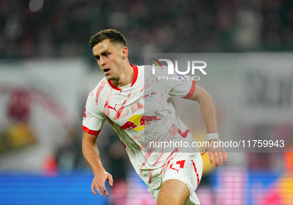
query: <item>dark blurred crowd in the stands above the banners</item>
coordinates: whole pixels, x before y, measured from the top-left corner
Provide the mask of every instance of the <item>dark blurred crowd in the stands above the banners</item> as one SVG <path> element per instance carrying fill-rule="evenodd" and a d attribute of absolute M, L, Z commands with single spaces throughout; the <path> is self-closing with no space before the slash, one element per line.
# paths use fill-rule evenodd
<path fill-rule="evenodd" d="M 293 49 L 291 0 L 0 0 L 0 58 L 91 57 L 100 30 L 145 52 Z"/>

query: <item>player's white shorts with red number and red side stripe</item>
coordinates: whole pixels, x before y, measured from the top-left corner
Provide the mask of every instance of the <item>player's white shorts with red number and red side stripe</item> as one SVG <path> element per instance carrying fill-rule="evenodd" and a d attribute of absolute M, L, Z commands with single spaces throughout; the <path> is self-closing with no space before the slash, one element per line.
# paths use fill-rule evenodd
<path fill-rule="evenodd" d="M 199 153 L 192 154 L 193 157 L 190 157 L 190 155 L 188 154 L 187 157 L 184 157 L 183 154 L 180 155 L 181 156 L 175 157 L 170 160 L 168 166 L 166 167 L 165 173 L 158 173 L 160 174 L 160 177 L 156 177 L 153 175 L 153 178 L 155 178 L 156 180 L 161 180 L 161 185 L 158 189 L 152 189 L 149 186 L 149 191 L 152 196 L 157 200 L 162 184 L 166 180 L 177 179 L 186 184 L 190 191 L 189 198 L 184 205 L 200 205 L 199 200 L 195 194 L 195 190 L 198 187 L 202 176 L 202 158 Z"/>

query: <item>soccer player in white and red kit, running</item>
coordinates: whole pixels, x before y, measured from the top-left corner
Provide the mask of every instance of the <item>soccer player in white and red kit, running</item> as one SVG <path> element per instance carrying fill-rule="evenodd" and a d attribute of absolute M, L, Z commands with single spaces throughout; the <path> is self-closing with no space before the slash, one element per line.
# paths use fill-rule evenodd
<path fill-rule="evenodd" d="M 96 189 L 101 196 L 103 193 L 108 196 L 106 180 L 113 186 L 112 175 L 104 169 L 96 146 L 100 130 L 108 121 L 157 205 L 199 205 L 195 194 L 202 175 L 198 148 L 186 152 L 182 146 L 162 145 L 195 141 L 178 118 L 172 100 L 173 96 L 180 96 L 199 103 L 210 143 L 201 154 L 209 152 L 210 162 L 215 162 L 216 167 L 223 164 L 223 157 L 227 161 L 223 148 L 212 146 L 219 137 L 211 95 L 195 86 L 192 79 L 158 80 L 157 76 L 166 74 L 165 67 L 154 75 L 152 66 L 130 64 L 126 40 L 116 30 L 100 31 L 89 44 L 105 75 L 88 96 L 82 125 L 82 151 L 94 173 L 93 194 L 96 195 Z"/>

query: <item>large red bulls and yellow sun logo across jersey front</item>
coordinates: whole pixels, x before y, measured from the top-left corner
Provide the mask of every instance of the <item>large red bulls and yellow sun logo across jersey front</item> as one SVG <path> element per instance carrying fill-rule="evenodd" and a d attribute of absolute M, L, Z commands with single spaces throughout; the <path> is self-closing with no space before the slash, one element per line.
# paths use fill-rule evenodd
<path fill-rule="evenodd" d="M 158 117 L 158 112 L 155 112 L 156 115 L 139 115 L 135 114 L 129 118 L 123 125 L 119 126 L 120 130 L 143 130 L 145 125 L 150 125 L 152 122 L 161 120 Z"/>

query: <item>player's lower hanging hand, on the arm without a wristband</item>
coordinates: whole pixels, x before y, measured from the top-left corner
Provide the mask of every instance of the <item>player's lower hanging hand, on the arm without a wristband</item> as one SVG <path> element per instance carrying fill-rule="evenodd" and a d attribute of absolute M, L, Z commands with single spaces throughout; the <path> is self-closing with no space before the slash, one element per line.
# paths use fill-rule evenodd
<path fill-rule="evenodd" d="M 113 177 L 111 174 L 109 174 L 105 170 L 95 174 L 95 177 L 92 182 L 92 193 L 94 195 L 97 195 L 95 191 L 95 188 L 96 188 L 96 190 L 98 191 L 101 197 L 103 196 L 103 192 L 105 193 L 106 196 L 108 196 L 108 192 L 105 187 L 106 180 L 109 180 L 109 185 L 113 186 Z M 103 192 L 101 192 L 101 190 Z"/>

